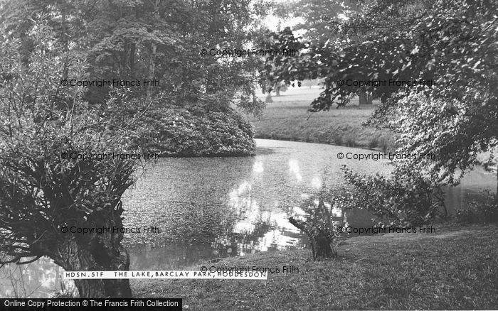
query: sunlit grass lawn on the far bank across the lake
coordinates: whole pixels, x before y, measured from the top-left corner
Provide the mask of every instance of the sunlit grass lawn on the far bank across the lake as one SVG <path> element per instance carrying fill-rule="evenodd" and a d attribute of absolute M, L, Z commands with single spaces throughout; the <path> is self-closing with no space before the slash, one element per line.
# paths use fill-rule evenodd
<path fill-rule="evenodd" d="M 388 149 L 392 133 L 361 126 L 374 107 L 359 106 L 358 99 L 354 99 L 347 107 L 310 114 L 309 104 L 319 92 L 320 89 L 291 88 L 280 97 L 272 97 L 274 102 L 267 103 L 261 119 L 248 118 L 255 127 L 255 138 Z"/>

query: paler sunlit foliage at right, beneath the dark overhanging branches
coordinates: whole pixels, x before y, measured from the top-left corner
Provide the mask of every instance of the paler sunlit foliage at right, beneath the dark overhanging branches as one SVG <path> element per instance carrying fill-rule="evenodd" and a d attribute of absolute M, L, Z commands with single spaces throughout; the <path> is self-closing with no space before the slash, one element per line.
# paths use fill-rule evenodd
<path fill-rule="evenodd" d="M 393 97 L 396 107 L 386 125 L 400 133 L 399 154 L 414 154 L 415 160 L 398 160 L 405 170 L 425 172 L 437 183 L 455 184 L 477 155 L 498 144 L 497 106 L 486 102 L 486 94 L 468 89 L 472 98 L 441 99 L 436 89 Z"/>

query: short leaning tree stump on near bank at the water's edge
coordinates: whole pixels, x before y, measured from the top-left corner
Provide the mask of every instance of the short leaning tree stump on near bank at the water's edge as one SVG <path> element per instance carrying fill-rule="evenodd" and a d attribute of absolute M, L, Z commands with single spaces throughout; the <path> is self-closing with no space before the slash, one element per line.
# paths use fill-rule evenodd
<path fill-rule="evenodd" d="M 332 248 L 332 239 L 327 231 L 319 229 L 314 226 L 310 226 L 306 222 L 289 217 L 289 222 L 296 227 L 304 231 L 309 238 L 309 242 L 312 246 L 313 260 L 319 260 L 320 258 L 334 258 L 337 257 L 337 251 Z"/>

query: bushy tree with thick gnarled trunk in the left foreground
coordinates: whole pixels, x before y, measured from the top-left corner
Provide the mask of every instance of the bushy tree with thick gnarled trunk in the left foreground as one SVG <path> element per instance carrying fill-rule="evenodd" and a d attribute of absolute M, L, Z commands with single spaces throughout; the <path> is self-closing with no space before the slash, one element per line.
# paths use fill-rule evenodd
<path fill-rule="evenodd" d="M 126 124 L 83 102 L 83 89 L 63 87 L 65 67 L 52 28 L 28 31 L 28 61 L 21 40 L 1 33 L 0 264 L 51 258 L 66 271 L 126 271 L 121 196 L 134 182 L 136 160 Z M 68 67 L 84 79 L 85 64 Z M 8 79 L 6 77 L 9 77 Z M 102 234 L 74 233 L 109 228 Z M 75 280 L 81 297 L 130 297 L 129 280 Z"/>

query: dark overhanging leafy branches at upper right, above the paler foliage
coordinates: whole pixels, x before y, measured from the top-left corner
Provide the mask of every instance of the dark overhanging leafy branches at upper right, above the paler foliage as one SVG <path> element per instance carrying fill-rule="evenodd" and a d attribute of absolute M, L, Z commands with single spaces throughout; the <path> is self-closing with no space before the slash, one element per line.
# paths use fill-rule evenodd
<path fill-rule="evenodd" d="M 375 0 L 359 12 L 344 9 L 346 18 L 337 21 L 335 40 L 309 44 L 307 53 L 277 67 L 275 75 L 287 82 L 325 77 L 326 89 L 312 103 L 314 111 L 334 102 L 344 105 L 359 89 L 337 80 L 432 79 L 445 90 L 441 97 L 462 97 L 470 87 L 493 92 L 497 20 L 491 12 L 496 9 L 487 0 Z M 386 84 L 366 89 L 387 99 L 403 88 Z"/>

